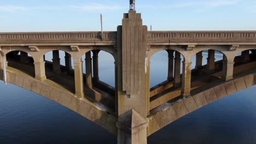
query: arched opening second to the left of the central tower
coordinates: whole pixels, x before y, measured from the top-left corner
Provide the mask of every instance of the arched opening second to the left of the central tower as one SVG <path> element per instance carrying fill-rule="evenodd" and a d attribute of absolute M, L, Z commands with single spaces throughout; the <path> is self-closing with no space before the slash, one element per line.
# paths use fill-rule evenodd
<path fill-rule="evenodd" d="M 75 93 L 73 58 L 65 51 L 49 51 L 44 55 L 46 79 Z"/>

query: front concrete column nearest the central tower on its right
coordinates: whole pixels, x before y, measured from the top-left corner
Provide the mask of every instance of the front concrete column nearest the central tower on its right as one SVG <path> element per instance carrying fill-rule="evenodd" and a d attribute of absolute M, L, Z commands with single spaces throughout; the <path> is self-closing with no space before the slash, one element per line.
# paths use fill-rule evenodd
<path fill-rule="evenodd" d="M 191 87 L 191 64 L 192 62 L 184 62 L 182 67 L 182 95 L 188 97 Z"/>

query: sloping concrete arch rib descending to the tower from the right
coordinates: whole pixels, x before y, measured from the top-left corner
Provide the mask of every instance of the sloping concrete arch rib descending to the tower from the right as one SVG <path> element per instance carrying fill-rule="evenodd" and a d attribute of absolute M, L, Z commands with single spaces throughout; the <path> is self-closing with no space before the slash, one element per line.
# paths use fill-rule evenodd
<path fill-rule="evenodd" d="M 191 97 L 178 100 L 176 103 L 171 104 L 166 109 L 161 110 L 148 118 L 148 136 L 165 127 L 167 124 L 172 123 L 176 119 L 183 117 L 202 106 L 210 104 L 213 101 L 226 97 L 232 93 L 241 91 L 242 89 L 252 87 L 255 83 L 256 73 L 249 74 L 243 77 L 238 77 L 234 80 L 220 83 L 217 86 L 192 95 Z"/>

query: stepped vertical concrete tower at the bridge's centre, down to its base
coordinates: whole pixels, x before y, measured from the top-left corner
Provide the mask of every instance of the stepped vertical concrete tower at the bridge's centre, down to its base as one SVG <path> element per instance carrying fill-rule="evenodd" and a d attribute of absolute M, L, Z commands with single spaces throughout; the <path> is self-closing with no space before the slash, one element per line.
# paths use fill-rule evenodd
<path fill-rule="evenodd" d="M 135 1 L 130 1 L 129 13 L 124 14 L 122 26 L 118 26 L 117 47 L 118 143 L 146 144 L 149 113 L 147 26 L 142 25 L 141 14 L 135 11 Z M 138 125 L 141 125 L 139 129 Z"/>

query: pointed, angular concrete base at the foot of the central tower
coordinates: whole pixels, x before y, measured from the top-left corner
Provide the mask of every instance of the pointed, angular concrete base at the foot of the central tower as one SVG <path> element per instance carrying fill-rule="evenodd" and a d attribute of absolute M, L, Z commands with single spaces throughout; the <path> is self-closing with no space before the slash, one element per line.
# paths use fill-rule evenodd
<path fill-rule="evenodd" d="M 119 116 L 117 127 L 118 144 L 147 144 L 148 121 L 135 110 Z"/>

